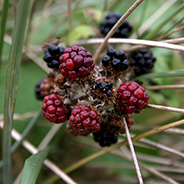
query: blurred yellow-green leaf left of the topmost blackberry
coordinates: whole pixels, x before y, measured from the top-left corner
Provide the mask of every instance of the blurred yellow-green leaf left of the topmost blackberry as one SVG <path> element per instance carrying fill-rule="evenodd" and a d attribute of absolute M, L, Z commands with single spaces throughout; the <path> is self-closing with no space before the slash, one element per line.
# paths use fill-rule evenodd
<path fill-rule="evenodd" d="M 72 42 L 81 38 L 89 38 L 94 35 L 93 28 L 88 25 L 81 25 L 73 29 L 68 37 L 68 42 Z"/>

